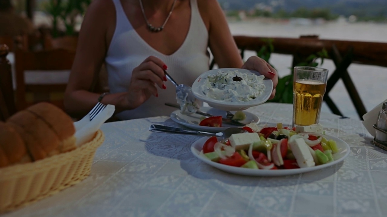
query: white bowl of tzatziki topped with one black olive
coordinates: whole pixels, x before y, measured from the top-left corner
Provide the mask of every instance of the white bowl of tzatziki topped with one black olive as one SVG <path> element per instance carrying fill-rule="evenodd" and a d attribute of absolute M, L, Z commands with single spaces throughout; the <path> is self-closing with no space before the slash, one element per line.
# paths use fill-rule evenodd
<path fill-rule="evenodd" d="M 228 111 L 260 105 L 269 99 L 272 89 L 272 80 L 257 71 L 238 68 L 207 71 L 192 84 L 192 93 L 198 100 Z"/>

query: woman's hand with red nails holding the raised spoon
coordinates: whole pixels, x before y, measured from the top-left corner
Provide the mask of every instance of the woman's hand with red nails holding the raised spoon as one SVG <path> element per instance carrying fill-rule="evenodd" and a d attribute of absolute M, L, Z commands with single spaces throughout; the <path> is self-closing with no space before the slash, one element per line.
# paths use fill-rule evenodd
<path fill-rule="evenodd" d="M 168 69 L 161 59 L 154 56 L 146 58 L 132 71 L 128 93 L 126 95 L 128 109 L 139 107 L 151 95 L 158 97 L 158 89 L 166 89 L 163 81 L 167 81 L 164 70 Z"/>

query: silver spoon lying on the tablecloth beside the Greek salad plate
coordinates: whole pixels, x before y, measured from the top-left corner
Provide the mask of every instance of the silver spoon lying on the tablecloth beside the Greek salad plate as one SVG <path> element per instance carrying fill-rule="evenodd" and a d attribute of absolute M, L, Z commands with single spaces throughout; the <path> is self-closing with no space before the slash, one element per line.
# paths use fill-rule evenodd
<path fill-rule="evenodd" d="M 222 139 L 229 138 L 232 134 L 247 132 L 244 129 L 238 127 L 230 127 L 225 129 L 224 131 L 212 133 L 212 132 L 204 132 L 204 131 L 194 131 L 194 130 L 186 130 L 177 127 L 168 127 L 158 124 L 152 124 L 149 127 L 149 131 L 151 132 L 166 132 L 166 133 L 175 133 L 175 134 L 186 134 L 186 135 L 195 135 L 195 136 L 216 136 Z"/>

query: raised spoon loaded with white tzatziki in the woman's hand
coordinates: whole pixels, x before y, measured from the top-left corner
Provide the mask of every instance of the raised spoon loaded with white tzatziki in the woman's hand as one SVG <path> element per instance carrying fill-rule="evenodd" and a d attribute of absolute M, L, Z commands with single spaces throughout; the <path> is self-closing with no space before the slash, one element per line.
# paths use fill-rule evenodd
<path fill-rule="evenodd" d="M 185 84 L 178 84 L 173 78 L 164 70 L 165 76 L 176 86 L 176 100 L 180 104 L 180 110 L 184 113 L 195 113 L 199 106 L 196 103 L 196 98 L 192 93 L 191 87 Z"/>

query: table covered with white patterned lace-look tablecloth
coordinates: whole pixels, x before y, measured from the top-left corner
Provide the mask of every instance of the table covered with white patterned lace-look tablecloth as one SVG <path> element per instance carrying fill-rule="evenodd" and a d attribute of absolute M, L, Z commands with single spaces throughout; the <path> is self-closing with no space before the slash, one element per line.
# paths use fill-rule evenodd
<path fill-rule="evenodd" d="M 261 124 L 291 124 L 289 104 L 249 111 Z M 358 120 L 323 113 L 320 122 L 351 147 L 344 162 L 272 178 L 233 175 L 202 163 L 190 153 L 200 137 L 148 131 L 151 124 L 177 126 L 168 117 L 107 123 L 89 178 L 3 216 L 387 216 L 387 152 L 370 145 Z"/>

